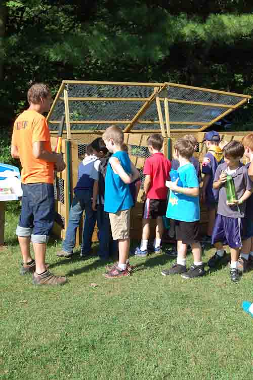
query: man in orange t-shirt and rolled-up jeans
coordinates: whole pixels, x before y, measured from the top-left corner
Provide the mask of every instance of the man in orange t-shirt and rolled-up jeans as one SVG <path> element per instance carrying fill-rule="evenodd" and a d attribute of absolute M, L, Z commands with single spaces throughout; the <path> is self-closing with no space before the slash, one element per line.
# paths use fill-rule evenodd
<path fill-rule="evenodd" d="M 32 282 L 37 285 L 64 284 L 67 279 L 52 275 L 45 264 L 46 243 L 54 223 L 54 169 L 65 168 L 62 156 L 52 152 L 48 123 L 42 115 L 49 111 L 52 96 L 47 85 L 37 83 L 28 90 L 27 99 L 30 106 L 14 123 L 11 146 L 12 157 L 22 165 L 22 209 L 16 230 L 23 256 L 20 273 L 32 272 Z"/>

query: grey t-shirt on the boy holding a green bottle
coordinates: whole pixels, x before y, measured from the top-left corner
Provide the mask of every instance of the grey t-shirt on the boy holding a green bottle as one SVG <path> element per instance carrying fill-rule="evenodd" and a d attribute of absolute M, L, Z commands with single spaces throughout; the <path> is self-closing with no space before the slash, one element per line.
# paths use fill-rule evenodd
<path fill-rule="evenodd" d="M 218 181 L 221 172 L 228 169 L 227 164 L 220 164 L 215 172 L 214 182 Z M 248 169 L 241 162 L 234 174 L 231 174 L 235 184 L 235 192 L 237 199 L 240 199 L 246 190 L 251 190 L 253 182 L 248 176 Z M 222 185 L 219 191 L 218 214 L 229 216 L 230 218 L 243 218 L 245 214 L 246 202 L 241 205 L 228 206 L 227 205 L 226 187 Z"/>

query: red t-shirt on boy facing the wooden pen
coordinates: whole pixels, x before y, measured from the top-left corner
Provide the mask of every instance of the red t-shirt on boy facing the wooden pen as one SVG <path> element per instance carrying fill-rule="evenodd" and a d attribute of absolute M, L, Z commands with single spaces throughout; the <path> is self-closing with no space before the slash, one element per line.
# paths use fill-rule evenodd
<path fill-rule="evenodd" d="M 151 184 L 147 194 L 149 199 L 166 199 L 167 187 L 165 182 L 171 170 L 171 161 L 167 160 L 162 153 L 155 153 L 146 159 L 143 174 L 151 177 Z"/>

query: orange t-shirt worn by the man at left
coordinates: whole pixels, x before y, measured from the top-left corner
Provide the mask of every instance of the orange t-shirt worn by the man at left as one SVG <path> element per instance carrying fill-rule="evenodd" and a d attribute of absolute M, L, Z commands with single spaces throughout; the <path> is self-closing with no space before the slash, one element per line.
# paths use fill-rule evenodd
<path fill-rule="evenodd" d="M 35 141 L 45 141 L 45 149 L 52 152 L 47 119 L 34 110 L 26 110 L 16 119 L 12 134 L 12 145 L 17 146 L 22 165 L 21 181 L 53 183 L 54 163 L 33 156 Z"/>

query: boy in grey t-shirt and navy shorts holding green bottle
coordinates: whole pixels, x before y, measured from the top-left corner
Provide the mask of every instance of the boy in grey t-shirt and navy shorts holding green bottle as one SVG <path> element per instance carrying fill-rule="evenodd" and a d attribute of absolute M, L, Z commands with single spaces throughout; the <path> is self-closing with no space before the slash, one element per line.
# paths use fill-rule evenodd
<path fill-rule="evenodd" d="M 247 168 L 240 162 L 244 154 L 244 147 L 238 141 L 230 141 L 224 148 L 224 164 L 220 164 L 214 178 L 214 188 L 219 189 L 218 215 L 215 220 L 212 235 L 212 244 L 216 247 L 216 253 L 208 261 L 210 268 L 224 262 L 226 252 L 223 244 L 228 244 L 231 253 L 230 276 L 231 281 L 239 281 L 238 270 L 239 248 L 242 247 L 242 227 L 245 215 L 246 199 L 253 191 L 253 182 L 248 176 Z M 226 181 L 227 174 L 231 175 L 235 185 L 237 200 L 227 202 Z"/>

